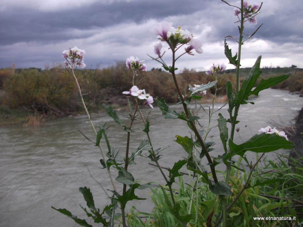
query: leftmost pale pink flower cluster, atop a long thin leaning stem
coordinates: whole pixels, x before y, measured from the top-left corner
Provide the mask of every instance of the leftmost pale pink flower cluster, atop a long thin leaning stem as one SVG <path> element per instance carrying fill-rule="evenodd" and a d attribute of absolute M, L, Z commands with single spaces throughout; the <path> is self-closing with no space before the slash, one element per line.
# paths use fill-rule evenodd
<path fill-rule="evenodd" d="M 69 48 L 69 50 L 65 50 L 62 52 L 63 58 L 65 58 L 65 66 L 66 67 L 77 67 L 84 68 L 86 64 L 83 62 L 83 55 L 85 54 L 85 50 L 80 50 L 76 46 L 74 48 Z"/>

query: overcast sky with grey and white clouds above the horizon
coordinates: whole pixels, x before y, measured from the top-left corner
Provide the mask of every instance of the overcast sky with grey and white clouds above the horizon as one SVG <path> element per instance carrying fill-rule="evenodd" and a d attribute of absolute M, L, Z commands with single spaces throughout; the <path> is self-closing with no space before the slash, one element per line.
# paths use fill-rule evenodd
<path fill-rule="evenodd" d="M 264 24 L 243 45 L 242 67 L 251 67 L 262 55 L 261 67 L 303 68 L 303 1 L 263 1 L 258 24 L 245 23 L 246 34 Z M 258 0 L 248 3 L 261 5 Z M 86 51 L 89 68 L 130 56 L 145 60 L 148 70 L 160 68 L 147 54 L 155 56 L 158 40 L 151 29 L 162 21 L 180 25 L 203 43 L 202 54 L 178 60 L 179 69 L 206 71 L 213 63 L 232 68 L 224 55 L 224 37 L 238 36 L 233 11 L 220 0 L 0 0 L 0 68 L 52 67 L 63 62 L 63 50 L 74 46 Z M 236 42 L 227 41 L 235 54 Z M 168 50 L 168 65 L 170 57 Z"/>

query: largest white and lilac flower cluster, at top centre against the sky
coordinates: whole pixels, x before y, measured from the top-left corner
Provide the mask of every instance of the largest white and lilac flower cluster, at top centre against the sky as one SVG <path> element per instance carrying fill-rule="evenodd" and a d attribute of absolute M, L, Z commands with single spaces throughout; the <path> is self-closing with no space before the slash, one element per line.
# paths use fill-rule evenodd
<path fill-rule="evenodd" d="M 158 35 L 158 39 L 167 41 L 172 47 L 176 47 L 178 44 L 188 44 L 188 47 L 185 48 L 186 53 L 191 54 L 191 50 L 195 50 L 198 54 L 202 54 L 202 42 L 193 38 L 188 30 L 182 30 L 180 26 L 174 28 L 171 22 L 161 22 L 152 31 L 155 35 Z M 155 54 L 159 57 L 161 56 L 161 48 L 160 43 L 155 45 Z"/>

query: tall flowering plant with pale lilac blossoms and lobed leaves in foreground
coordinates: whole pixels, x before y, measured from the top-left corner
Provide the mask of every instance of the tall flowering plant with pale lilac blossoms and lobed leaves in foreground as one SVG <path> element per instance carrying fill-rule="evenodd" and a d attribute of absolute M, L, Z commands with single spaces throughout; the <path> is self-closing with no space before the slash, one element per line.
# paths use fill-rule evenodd
<path fill-rule="evenodd" d="M 225 1 L 222 0 L 222 2 Z M 230 5 L 227 2 L 225 3 Z M 189 223 L 193 223 L 195 226 L 197 225 L 199 221 L 199 204 L 202 203 L 199 200 L 199 193 L 204 194 L 208 192 L 209 189 L 210 192 L 213 194 L 212 199 L 209 200 L 210 202 L 207 206 L 209 209 L 212 209 L 212 211 L 209 211 L 205 223 L 208 226 L 212 226 L 212 223 L 214 223 L 214 226 L 222 225 L 225 227 L 228 223 L 228 214 L 230 212 L 229 210 L 239 198 L 243 198 L 241 197 L 241 195 L 245 192 L 246 189 L 272 183 L 273 180 L 262 181 L 261 179 L 256 179 L 254 184 L 251 185 L 250 180 L 255 167 L 261 160 L 261 157 L 264 155 L 264 153 L 278 150 L 281 148 L 290 149 L 293 147 L 293 143 L 288 141 L 284 132 L 278 131 L 275 128 L 271 127 L 262 128 L 260 130 L 261 134 L 255 134 L 242 144 L 234 143 L 234 133 L 236 124 L 239 122 L 237 120 L 237 116 L 240 107 L 248 103 L 254 104 L 253 102 L 249 101 L 248 98 L 251 95 L 258 95 L 261 90 L 267 89 L 271 86 L 280 83 L 281 81 L 284 81 L 288 78 L 289 75 L 283 74 L 281 76 L 271 77 L 266 80 L 261 79 L 261 81 L 256 85 L 257 79 L 261 75 L 261 56 L 259 56 L 248 76 L 245 77 L 242 84 L 240 84 L 239 68 L 241 61 L 241 46 L 243 45 L 244 41 L 251 38 L 251 36 L 253 36 L 261 27 L 259 26 L 256 31 L 253 32 L 251 35 L 247 35 L 244 33 L 244 24 L 245 22 L 247 23 L 247 21 L 250 24 L 256 24 L 255 16 L 258 14 L 261 6 L 257 4 L 249 5 L 247 2 L 241 0 L 241 5 L 234 7 L 236 8 L 234 14 L 238 17 L 238 22 L 240 23 L 240 25 L 238 26 L 239 37 L 227 37 L 230 37 L 231 39 L 234 39 L 238 42 L 238 52 L 237 54 L 233 55 L 231 49 L 229 49 L 227 45 L 226 40 L 224 45 L 224 51 L 226 57 L 229 60 L 229 63 L 234 65 L 237 69 L 237 78 L 235 90 L 233 89 L 233 84 L 231 84 L 231 82 L 228 81 L 226 83 L 229 118 L 225 119 L 221 113 L 218 114 L 218 129 L 220 132 L 220 139 L 223 145 L 223 150 L 220 151 L 221 154 L 217 157 L 211 156 L 211 151 L 215 149 L 213 146 L 214 142 L 206 140 L 210 125 L 208 124 L 208 127 L 206 129 L 201 127 L 198 121 L 200 119 L 197 113 L 198 111 L 191 110 L 191 102 L 193 100 L 199 101 L 200 99 L 202 99 L 203 96 L 205 96 L 206 90 L 215 87 L 217 81 L 209 82 L 208 84 L 195 84 L 194 86 L 189 85 L 188 89 L 182 89 L 178 84 L 176 76 L 177 61 L 185 54 L 194 55 L 194 50 L 198 54 L 201 54 L 202 43 L 198 39 L 193 38 L 193 35 L 189 31 L 182 30 L 181 27 L 172 27 L 172 23 L 162 22 L 153 28 L 153 32 L 155 33 L 155 35 L 158 35 L 158 39 L 161 42 L 155 45 L 154 51 L 157 55 L 157 58 L 152 59 L 161 63 L 163 68 L 171 74 L 180 101 L 179 104 L 182 105 L 183 111 L 181 113 L 178 113 L 175 110 L 171 110 L 169 105 L 165 102 L 164 98 L 155 98 L 155 102 L 157 103 L 165 118 L 184 120 L 189 130 L 192 131 L 191 136 L 181 137 L 179 135 L 176 135 L 177 139 L 175 141 L 179 143 L 185 150 L 185 152 L 187 153 L 187 158 L 180 159 L 178 162 L 174 163 L 171 168 L 168 168 L 168 176 L 164 173 L 163 169 L 161 168 L 158 162 L 161 156 L 159 154 L 161 150 L 154 149 L 152 145 L 152 140 L 149 135 L 150 122 L 148 116 L 144 117 L 141 112 L 141 108 L 145 105 L 148 105 L 149 107 L 153 108 L 152 103 L 154 102 L 154 98 L 150 94 L 146 93 L 145 89 L 139 89 L 139 85 L 135 84 L 135 78 L 138 76 L 140 71 L 146 71 L 147 66 L 143 64 L 142 61 L 139 61 L 137 57 L 135 58 L 133 56 L 128 58 L 126 61 L 126 67 L 130 70 L 130 73 L 127 73 L 125 75 L 130 81 L 131 88 L 128 91 L 123 91 L 122 93 L 126 94 L 129 98 L 128 118 L 130 119 L 130 123 L 128 126 L 118 117 L 117 113 L 110 106 L 104 105 L 107 113 L 115 120 L 118 125 L 123 127 L 123 129 L 127 133 L 125 157 L 123 160 L 121 160 L 118 155 L 118 149 L 110 146 L 109 139 L 106 135 L 106 122 L 102 126 L 98 126 L 99 131 L 97 132 L 91 121 L 91 116 L 83 100 L 81 85 L 78 83 L 78 78 L 75 76 L 74 68 L 85 67 L 85 64 L 83 63 L 84 51 L 79 50 L 75 47 L 73 49 L 70 49 L 69 51 L 63 52 L 63 57 L 66 59 L 66 66 L 71 68 L 71 71 L 68 72 L 73 76 L 76 81 L 77 88 L 82 101 L 82 107 L 85 108 L 85 111 L 91 122 L 92 128 L 95 132 L 95 145 L 100 148 L 100 151 L 102 153 L 102 160 L 100 160 L 100 162 L 102 166 L 107 169 L 108 176 L 111 179 L 113 187 L 113 196 L 111 196 L 111 204 L 106 206 L 105 209 L 103 209 L 103 212 L 101 213 L 100 209 L 97 209 L 94 205 L 94 200 L 90 189 L 86 187 L 80 188 L 80 191 L 84 195 L 90 212 L 88 212 L 86 208 L 83 209 L 88 215 L 88 217 L 92 217 L 96 223 L 102 223 L 104 226 L 114 226 L 116 224 L 116 218 L 121 216 L 122 225 L 123 227 L 126 227 L 127 221 L 125 215 L 125 208 L 127 202 L 133 199 L 142 199 L 135 195 L 135 190 L 146 189 L 149 187 L 159 187 L 159 185 L 150 183 L 139 184 L 135 181 L 134 177 L 128 169 L 130 165 L 135 163 L 134 159 L 136 156 L 142 156 L 143 151 L 147 151 L 148 155 L 146 156 L 152 161 L 154 161 L 156 163 L 156 166 L 159 167 L 159 170 L 166 181 L 165 186 L 160 185 L 160 190 L 163 192 L 165 204 L 167 205 L 168 211 L 175 218 L 178 225 L 181 226 L 189 226 Z M 168 47 L 168 50 L 171 52 L 170 64 L 167 64 L 163 59 L 163 55 L 165 54 L 165 52 L 161 54 L 161 50 L 163 47 L 162 43 L 165 43 Z M 220 71 L 224 69 L 224 65 L 213 65 L 209 73 L 216 76 Z M 209 123 L 214 113 L 214 103 L 215 97 L 212 105 L 212 110 L 209 111 Z M 142 140 L 141 143 L 138 145 L 138 149 L 136 151 L 131 152 L 130 143 L 132 142 L 132 133 L 134 133 L 134 131 L 132 130 L 132 125 L 133 122 L 137 120 L 137 118 L 141 118 L 142 120 L 142 123 L 144 125 L 142 131 L 146 134 L 147 139 Z M 107 160 L 101 146 L 102 137 L 104 137 L 105 139 L 105 144 L 108 150 L 108 152 L 106 153 Z M 255 164 L 252 164 L 247 160 L 245 156 L 245 153 L 247 151 L 252 151 L 257 154 L 262 153 L 262 155 L 258 157 L 258 160 Z M 231 187 L 231 173 L 234 169 L 245 171 L 244 168 L 241 169 L 236 164 L 237 161 L 234 159 L 236 155 L 240 156 L 241 159 L 245 161 L 246 164 L 241 164 L 246 165 L 249 168 L 249 172 L 246 176 L 244 185 L 240 187 L 241 189 L 238 190 L 237 194 L 235 195 L 232 192 Z M 201 164 L 202 159 L 207 160 L 208 168 Z M 225 180 L 220 180 L 218 178 L 219 172 L 216 169 L 216 166 L 220 163 L 224 163 L 226 166 Z M 122 165 L 124 165 L 124 167 L 122 167 Z M 193 183 L 191 185 L 192 189 L 190 209 L 187 213 L 184 213 L 184 211 L 181 210 L 180 202 L 176 201 L 175 192 L 172 188 L 173 184 L 176 182 L 176 177 L 183 175 L 182 173 L 180 173 L 180 169 L 183 166 L 186 166 L 188 171 L 190 171 L 193 176 Z M 115 178 L 115 181 L 113 180 L 113 177 L 109 170 L 111 167 L 118 170 L 118 176 Z M 115 186 L 116 182 L 122 183 L 122 194 L 118 193 Z M 169 195 L 167 195 L 166 193 L 166 187 L 169 190 Z M 186 197 L 186 195 L 184 195 L 183 197 Z M 218 198 L 219 213 L 218 215 L 215 215 L 214 210 L 217 210 L 217 208 L 215 208 L 217 207 L 217 205 L 215 204 L 217 204 L 216 201 Z M 203 204 L 205 205 L 205 201 L 203 201 Z M 116 209 L 118 206 L 120 206 L 122 213 L 121 215 L 117 214 Z M 194 207 L 195 212 L 191 212 L 191 207 Z M 74 219 L 74 221 L 79 223 L 80 225 L 91 226 L 85 220 L 78 219 L 66 209 L 56 210 Z M 195 215 L 193 215 L 193 213 L 195 213 Z"/>

